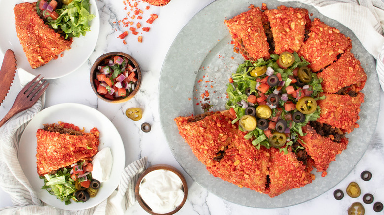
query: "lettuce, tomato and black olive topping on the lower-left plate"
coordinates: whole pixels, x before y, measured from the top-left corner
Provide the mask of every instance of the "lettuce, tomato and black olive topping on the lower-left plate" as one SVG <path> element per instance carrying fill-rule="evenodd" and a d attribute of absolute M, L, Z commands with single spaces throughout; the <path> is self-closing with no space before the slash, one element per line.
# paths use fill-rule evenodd
<path fill-rule="evenodd" d="M 95 197 L 100 188 L 100 182 L 92 178 L 92 163 L 87 160 L 80 160 L 70 166 L 56 171 L 54 174 L 40 176 L 44 179 L 42 189 L 47 190 L 51 195 L 65 202 L 65 205 L 75 202 L 86 202 L 89 198 Z"/>

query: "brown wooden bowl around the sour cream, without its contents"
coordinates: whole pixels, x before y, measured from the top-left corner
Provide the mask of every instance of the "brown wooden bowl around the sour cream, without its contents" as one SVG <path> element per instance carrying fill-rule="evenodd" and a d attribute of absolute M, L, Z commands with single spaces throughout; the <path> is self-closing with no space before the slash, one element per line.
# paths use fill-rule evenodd
<path fill-rule="evenodd" d="M 159 213 L 155 213 L 151 210 L 150 207 L 148 207 L 148 205 L 143 201 L 143 199 L 141 198 L 140 194 L 139 194 L 139 186 L 141 184 L 141 181 L 143 180 L 143 178 L 150 172 L 152 171 L 155 171 L 155 170 L 159 170 L 159 169 L 164 169 L 164 170 L 169 170 L 173 173 L 175 173 L 177 176 L 179 176 L 179 178 L 181 179 L 181 182 L 183 183 L 183 187 L 182 187 L 182 190 L 184 191 L 184 198 L 183 198 L 183 201 L 180 203 L 179 206 L 177 206 L 173 211 L 170 211 L 168 213 L 165 213 L 165 214 L 159 214 Z M 187 200 L 187 195 L 188 195 L 188 186 L 187 186 L 187 181 L 185 180 L 183 174 L 181 174 L 181 172 L 179 172 L 179 170 L 177 170 L 176 168 L 174 168 L 173 166 L 170 166 L 170 165 L 166 165 L 166 164 L 157 164 L 157 165 L 153 165 L 149 168 L 147 168 L 146 170 L 144 170 L 143 173 L 141 173 L 139 179 L 137 180 L 137 183 L 136 183 L 136 186 L 135 186 L 135 196 L 136 196 L 136 199 L 137 201 L 139 202 L 140 206 L 148 213 L 152 214 L 152 215 L 172 215 L 176 212 L 178 212 L 184 205 L 184 203 L 186 202 Z"/>

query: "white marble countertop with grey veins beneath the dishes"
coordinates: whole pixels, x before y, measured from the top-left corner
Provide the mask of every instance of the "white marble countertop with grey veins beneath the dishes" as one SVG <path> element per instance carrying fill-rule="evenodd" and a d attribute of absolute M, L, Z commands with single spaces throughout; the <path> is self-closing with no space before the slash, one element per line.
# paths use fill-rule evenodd
<path fill-rule="evenodd" d="M 164 7 L 151 6 L 149 10 L 144 11 L 143 17 L 156 13 L 159 18 L 149 26 L 151 27 L 149 32 L 142 34 L 142 43 L 137 42 L 137 36 L 129 33 L 125 45 L 118 36 L 123 31 L 130 32 L 129 27 L 118 25 L 118 21 L 126 16 L 129 7 L 128 10 L 124 10 L 122 1 L 97 0 L 96 4 L 100 13 L 100 33 L 95 51 L 89 60 L 73 73 L 59 79 L 48 80 L 50 85 L 46 93 L 45 108 L 68 102 L 96 108 L 113 122 L 121 134 L 126 153 L 126 165 L 147 156 L 149 165 L 164 163 L 178 168 L 186 177 L 189 186 L 187 202 L 177 213 L 180 215 L 297 215 L 304 214 L 304 212 L 310 212 L 312 215 L 346 214 L 353 202 L 362 203 L 362 196 L 365 193 L 371 193 L 374 196 L 374 202 L 384 203 L 384 169 L 382 165 L 384 163 L 384 144 L 382 141 L 384 129 L 381 127 L 384 124 L 384 93 L 382 91 L 380 96 L 378 95 L 378 98 L 381 99 L 378 126 L 371 125 L 372 129 L 376 127 L 376 132 L 361 161 L 337 186 L 305 203 L 278 209 L 259 209 L 233 204 L 209 193 L 205 188 L 196 184 L 182 169 L 173 157 L 160 126 L 157 101 L 160 71 L 165 55 L 178 32 L 198 11 L 213 1 L 172 0 Z M 144 5 L 142 2 L 139 4 Z M 145 23 L 145 20 L 143 18 L 141 22 Z M 98 99 L 89 83 L 89 71 L 92 63 L 101 54 L 111 51 L 121 51 L 132 55 L 142 69 L 143 83 L 139 93 L 134 99 L 122 104 L 110 104 Z M 0 62 L 2 59 L 3 55 L 0 54 Z M 19 77 L 16 75 L 8 96 L 0 106 L 1 118 L 12 106 L 20 89 Z M 125 116 L 125 110 L 130 107 L 140 107 L 144 110 L 143 118 L 140 121 L 133 122 Z M 143 122 L 149 122 L 152 125 L 151 132 L 143 133 L 140 131 L 140 125 Z M 364 170 L 369 170 L 373 174 L 372 179 L 368 182 L 360 178 L 360 173 Z M 345 188 L 351 181 L 358 182 L 362 189 L 362 195 L 357 199 L 352 199 L 345 193 L 342 200 L 335 200 L 333 191 L 342 189 L 345 192 Z M 9 195 L 1 188 L 0 199 L 0 208 L 12 206 Z M 363 205 L 366 215 L 380 214 L 373 211 L 373 204 L 363 203 Z M 126 214 L 146 215 L 148 213 L 136 203 L 128 209 Z"/>

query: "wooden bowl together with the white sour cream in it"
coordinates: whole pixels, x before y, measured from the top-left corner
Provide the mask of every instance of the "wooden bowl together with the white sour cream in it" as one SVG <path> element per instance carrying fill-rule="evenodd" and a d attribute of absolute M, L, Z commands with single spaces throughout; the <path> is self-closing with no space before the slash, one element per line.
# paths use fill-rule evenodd
<path fill-rule="evenodd" d="M 174 194 L 164 196 L 167 192 L 161 190 L 172 191 Z M 135 186 L 135 195 L 146 212 L 152 215 L 172 215 L 186 202 L 188 187 L 179 170 L 170 165 L 157 164 L 147 168 L 140 175 Z M 157 199 L 169 199 L 162 202 L 174 202 L 174 204 L 160 205 Z"/>

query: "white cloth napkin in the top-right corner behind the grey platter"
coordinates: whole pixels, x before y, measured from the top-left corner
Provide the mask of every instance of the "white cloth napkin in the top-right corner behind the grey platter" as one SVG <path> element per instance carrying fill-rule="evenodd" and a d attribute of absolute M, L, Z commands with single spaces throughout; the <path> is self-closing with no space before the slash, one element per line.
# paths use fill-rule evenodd
<path fill-rule="evenodd" d="M 292 0 L 278 0 L 282 2 Z M 294 0 L 350 28 L 376 59 L 379 83 L 384 91 L 384 2 L 381 0 Z"/>

